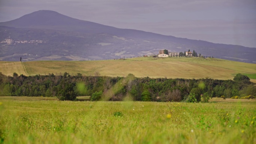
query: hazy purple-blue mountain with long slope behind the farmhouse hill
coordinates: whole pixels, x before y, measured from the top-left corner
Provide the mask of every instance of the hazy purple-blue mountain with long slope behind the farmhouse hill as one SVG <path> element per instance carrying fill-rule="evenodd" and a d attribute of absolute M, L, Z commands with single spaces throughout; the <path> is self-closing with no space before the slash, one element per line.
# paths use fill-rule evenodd
<path fill-rule="evenodd" d="M 0 22 L 0 60 L 86 60 L 133 57 L 159 49 L 256 63 L 256 48 L 210 43 L 74 19 L 51 10 Z"/>

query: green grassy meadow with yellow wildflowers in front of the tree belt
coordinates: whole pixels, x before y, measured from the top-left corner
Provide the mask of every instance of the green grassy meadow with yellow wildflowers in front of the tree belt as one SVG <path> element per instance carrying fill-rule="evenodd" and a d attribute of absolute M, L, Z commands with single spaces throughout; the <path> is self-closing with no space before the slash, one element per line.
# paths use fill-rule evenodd
<path fill-rule="evenodd" d="M 251 100 L 73 102 L 4 96 L 0 143 L 253 144 L 255 117 Z"/>

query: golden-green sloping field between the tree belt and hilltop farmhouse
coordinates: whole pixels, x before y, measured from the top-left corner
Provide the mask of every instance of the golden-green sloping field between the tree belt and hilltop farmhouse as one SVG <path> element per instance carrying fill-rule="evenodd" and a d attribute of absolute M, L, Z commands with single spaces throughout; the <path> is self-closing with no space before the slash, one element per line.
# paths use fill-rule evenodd
<path fill-rule="evenodd" d="M 184 79 L 233 79 L 235 74 L 247 74 L 251 79 L 256 76 L 256 64 L 227 61 L 216 58 L 131 58 L 126 60 L 106 61 L 30 61 L 3 62 L 0 61 L 0 72 L 12 76 L 13 72 L 33 76 L 36 74 L 55 75 L 67 72 L 71 75 L 81 73 L 102 76 L 136 77 L 167 77 Z"/>

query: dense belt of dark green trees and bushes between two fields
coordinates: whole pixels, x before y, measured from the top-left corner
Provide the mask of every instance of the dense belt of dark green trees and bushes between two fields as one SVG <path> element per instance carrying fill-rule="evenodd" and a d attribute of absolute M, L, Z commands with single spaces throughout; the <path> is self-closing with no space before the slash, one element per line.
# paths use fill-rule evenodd
<path fill-rule="evenodd" d="M 234 80 L 216 79 L 167 79 L 149 77 L 82 76 L 24 76 L 0 73 L 1 96 L 56 96 L 60 100 L 77 100 L 76 96 L 91 96 L 91 101 L 122 101 L 129 96 L 134 101 L 187 101 L 207 102 L 211 97 L 231 98 L 256 96 L 256 87 L 250 79 L 237 74 Z"/>

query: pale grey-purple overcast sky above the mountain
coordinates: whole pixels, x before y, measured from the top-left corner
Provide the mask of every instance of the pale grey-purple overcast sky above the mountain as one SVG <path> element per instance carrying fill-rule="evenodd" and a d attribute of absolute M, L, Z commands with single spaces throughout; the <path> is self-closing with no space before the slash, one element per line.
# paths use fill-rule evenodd
<path fill-rule="evenodd" d="M 117 28 L 256 48 L 256 0 L 0 0 L 0 22 L 37 10 Z"/>

